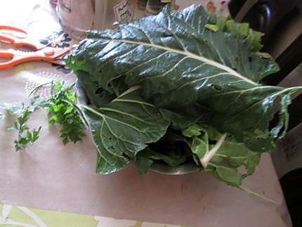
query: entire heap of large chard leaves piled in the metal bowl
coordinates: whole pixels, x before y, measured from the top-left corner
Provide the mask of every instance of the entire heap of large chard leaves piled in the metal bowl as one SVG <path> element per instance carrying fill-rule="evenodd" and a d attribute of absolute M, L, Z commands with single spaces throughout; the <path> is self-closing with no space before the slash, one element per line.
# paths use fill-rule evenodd
<path fill-rule="evenodd" d="M 240 187 L 286 134 L 290 96 L 302 89 L 261 84 L 279 70 L 259 52 L 261 35 L 201 6 L 88 32 L 67 65 L 90 101 L 78 108 L 98 173 L 192 163 Z M 270 125 L 274 103 L 280 119 Z"/>

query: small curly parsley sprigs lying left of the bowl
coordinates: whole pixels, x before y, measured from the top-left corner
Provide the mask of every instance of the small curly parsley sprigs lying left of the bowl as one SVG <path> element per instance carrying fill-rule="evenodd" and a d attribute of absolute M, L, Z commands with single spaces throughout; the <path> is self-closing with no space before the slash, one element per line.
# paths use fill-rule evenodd
<path fill-rule="evenodd" d="M 0 109 L 6 110 L 6 114 L 1 114 L 0 118 L 15 118 L 13 126 L 8 127 L 8 130 L 18 131 L 18 138 L 14 141 L 16 151 L 25 148 L 29 143 L 34 143 L 39 138 L 41 127 L 30 130 L 26 124 L 30 114 L 38 109 L 44 109 L 48 112 L 49 124 L 60 124 L 60 138 L 64 144 L 82 141 L 85 136 L 84 122 L 75 109 L 77 95 L 72 93 L 73 85 L 64 87 L 64 84 L 60 82 L 47 84 L 51 84 L 52 95 L 46 100 L 41 100 L 39 96 L 33 96 L 30 104 L 26 107 L 23 101 L 0 105 Z M 37 86 L 32 93 L 35 93 L 41 86 L 46 86 L 46 84 Z"/>

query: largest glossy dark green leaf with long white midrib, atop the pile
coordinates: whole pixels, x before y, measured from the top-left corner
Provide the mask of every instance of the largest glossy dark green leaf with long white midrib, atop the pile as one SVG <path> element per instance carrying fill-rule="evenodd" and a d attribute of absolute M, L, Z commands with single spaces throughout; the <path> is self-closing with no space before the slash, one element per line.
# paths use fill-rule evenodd
<path fill-rule="evenodd" d="M 209 24 L 221 29 L 209 30 Z M 278 134 L 269 130 L 274 100 L 301 87 L 258 84 L 279 69 L 270 56 L 258 53 L 260 37 L 247 24 L 221 22 L 201 6 L 174 13 L 166 8 L 119 30 L 89 32 L 68 65 L 88 72 L 91 81 L 110 93 L 119 80 L 142 86 L 144 100 L 158 107 L 179 111 L 201 105 L 210 115 L 204 119 L 207 124 L 236 136 L 251 150 L 265 152 L 275 149 L 286 129 Z M 287 103 L 281 105 L 287 108 Z M 287 125 L 286 111 L 281 112 L 281 124 Z"/>

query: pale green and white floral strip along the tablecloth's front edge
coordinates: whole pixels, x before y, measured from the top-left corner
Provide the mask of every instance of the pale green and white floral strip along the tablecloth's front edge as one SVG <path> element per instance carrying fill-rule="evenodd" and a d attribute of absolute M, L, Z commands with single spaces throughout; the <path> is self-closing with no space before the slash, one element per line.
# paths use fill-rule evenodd
<path fill-rule="evenodd" d="M 72 214 L 46 209 L 34 209 L 21 206 L 0 205 L 0 226 L 24 227 L 185 227 L 134 221 L 112 219 L 103 216 Z"/>

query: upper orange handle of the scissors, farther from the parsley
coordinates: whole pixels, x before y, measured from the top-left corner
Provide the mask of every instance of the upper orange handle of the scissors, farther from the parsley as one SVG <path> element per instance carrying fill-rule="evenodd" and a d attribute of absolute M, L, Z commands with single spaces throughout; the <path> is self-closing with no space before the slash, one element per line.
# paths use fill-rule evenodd
<path fill-rule="evenodd" d="M 9 31 L 13 31 L 13 32 L 20 32 L 22 34 L 27 35 L 27 32 L 25 32 L 24 30 L 22 30 L 18 27 L 0 25 L 0 30 L 9 30 Z M 45 47 L 44 44 L 40 44 L 37 41 L 30 40 L 27 37 L 17 38 L 17 37 L 14 37 L 11 34 L 4 34 L 4 33 L 1 34 L 0 33 L 0 40 L 6 41 L 10 44 L 13 44 L 13 46 L 15 46 L 15 47 L 29 46 L 30 48 L 33 48 L 34 50 L 41 50 L 41 48 Z"/>

